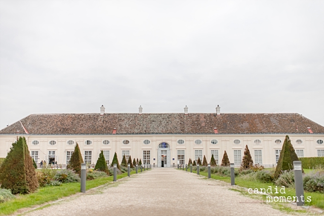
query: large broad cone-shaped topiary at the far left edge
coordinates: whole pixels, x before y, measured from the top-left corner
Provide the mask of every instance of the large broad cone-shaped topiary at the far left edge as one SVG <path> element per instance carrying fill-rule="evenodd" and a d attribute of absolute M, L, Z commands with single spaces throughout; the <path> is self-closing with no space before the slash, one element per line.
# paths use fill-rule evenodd
<path fill-rule="evenodd" d="M 37 189 L 38 180 L 24 137 L 12 144 L 0 166 L 0 183 L 13 194 L 32 193 Z"/>

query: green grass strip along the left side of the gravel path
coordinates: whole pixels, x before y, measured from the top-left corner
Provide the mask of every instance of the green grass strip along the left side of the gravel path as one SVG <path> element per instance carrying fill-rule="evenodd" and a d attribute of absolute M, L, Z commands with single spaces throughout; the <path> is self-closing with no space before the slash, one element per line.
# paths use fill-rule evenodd
<path fill-rule="evenodd" d="M 131 171 L 131 175 L 135 171 Z M 127 177 L 127 173 L 117 175 L 117 180 Z M 86 189 L 98 187 L 113 181 L 113 177 L 104 177 L 87 181 Z M 46 202 L 58 200 L 80 192 L 80 183 L 67 183 L 61 186 L 39 188 L 37 192 L 26 195 L 17 195 L 15 199 L 0 203 L 0 215 L 12 214 L 20 208 L 28 208 L 34 205 L 41 205 Z"/>

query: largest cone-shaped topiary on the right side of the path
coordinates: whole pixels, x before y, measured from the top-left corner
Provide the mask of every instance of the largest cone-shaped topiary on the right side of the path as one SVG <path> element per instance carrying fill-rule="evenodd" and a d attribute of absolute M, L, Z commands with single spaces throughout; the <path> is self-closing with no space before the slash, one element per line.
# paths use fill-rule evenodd
<path fill-rule="evenodd" d="M 294 161 L 297 160 L 299 160 L 298 156 L 289 139 L 289 136 L 287 135 L 285 142 L 282 145 L 277 167 L 275 168 L 274 179 L 278 179 L 279 176 L 282 174 L 282 171 L 293 169 Z"/>

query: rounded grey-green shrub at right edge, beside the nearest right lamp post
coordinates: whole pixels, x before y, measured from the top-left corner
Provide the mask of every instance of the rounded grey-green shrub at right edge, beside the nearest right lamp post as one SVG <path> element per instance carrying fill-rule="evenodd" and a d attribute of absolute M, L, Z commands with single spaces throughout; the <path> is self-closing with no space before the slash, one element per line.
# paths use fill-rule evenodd
<path fill-rule="evenodd" d="M 304 189 L 309 192 L 324 193 L 324 172 L 311 171 L 303 179 Z"/>

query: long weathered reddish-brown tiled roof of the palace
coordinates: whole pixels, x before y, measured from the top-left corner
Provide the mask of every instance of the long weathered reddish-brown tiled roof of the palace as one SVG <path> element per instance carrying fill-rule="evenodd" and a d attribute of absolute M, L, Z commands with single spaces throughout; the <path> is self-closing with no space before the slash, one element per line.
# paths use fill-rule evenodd
<path fill-rule="evenodd" d="M 21 122 L 21 123 L 20 123 Z M 32 114 L 0 134 L 219 134 L 324 133 L 324 127 L 297 113 L 99 113 Z"/>

